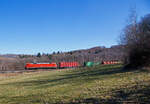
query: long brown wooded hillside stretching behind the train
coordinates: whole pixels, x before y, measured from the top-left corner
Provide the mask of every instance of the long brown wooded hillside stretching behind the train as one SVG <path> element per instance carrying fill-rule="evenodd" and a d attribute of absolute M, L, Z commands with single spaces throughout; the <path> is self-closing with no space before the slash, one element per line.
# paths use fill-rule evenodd
<path fill-rule="evenodd" d="M 54 52 L 53 54 L 43 53 L 38 55 L 0 55 L 0 71 L 3 70 L 24 70 L 26 63 L 35 62 L 56 62 L 77 61 L 84 65 L 87 61 L 101 62 L 104 60 L 121 60 L 124 54 L 123 46 L 116 45 L 110 48 L 104 46 L 93 47 L 90 49 L 81 49 L 70 52 Z"/>

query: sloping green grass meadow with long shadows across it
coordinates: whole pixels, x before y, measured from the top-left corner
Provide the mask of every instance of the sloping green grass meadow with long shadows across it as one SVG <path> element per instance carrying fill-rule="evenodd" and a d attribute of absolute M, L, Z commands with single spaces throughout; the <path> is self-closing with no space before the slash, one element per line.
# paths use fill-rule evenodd
<path fill-rule="evenodd" d="M 0 76 L 0 104 L 95 104 L 150 101 L 150 73 L 121 65 Z"/>

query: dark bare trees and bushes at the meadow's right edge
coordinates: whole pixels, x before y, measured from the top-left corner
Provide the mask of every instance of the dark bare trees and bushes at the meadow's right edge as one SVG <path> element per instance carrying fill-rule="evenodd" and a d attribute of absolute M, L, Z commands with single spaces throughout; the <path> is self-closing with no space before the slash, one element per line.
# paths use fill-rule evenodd
<path fill-rule="evenodd" d="M 124 63 L 126 67 L 143 67 L 150 65 L 150 15 L 139 22 L 132 12 L 130 23 L 121 35 L 121 44 L 125 46 Z"/>

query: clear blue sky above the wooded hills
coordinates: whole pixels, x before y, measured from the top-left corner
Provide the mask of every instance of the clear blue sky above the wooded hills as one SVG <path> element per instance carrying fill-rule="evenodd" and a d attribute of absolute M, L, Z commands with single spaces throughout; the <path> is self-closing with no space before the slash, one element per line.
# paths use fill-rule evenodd
<path fill-rule="evenodd" d="M 150 0 L 0 0 L 0 54 L 110 47 L 135 5 L 150 13 Z"/>

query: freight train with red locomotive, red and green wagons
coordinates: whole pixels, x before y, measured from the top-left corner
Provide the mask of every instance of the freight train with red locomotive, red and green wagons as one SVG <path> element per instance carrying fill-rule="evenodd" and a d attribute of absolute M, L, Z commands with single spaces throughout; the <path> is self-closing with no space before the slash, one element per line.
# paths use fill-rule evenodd
<path fill-rule="evenodd" d="M 84 66 L 86 67 L 91 67 L 95 65 L 100 65 L 100 64 L 119 64 L 119 61 L 102 61 L 102 62 L 85 62 Z M 80 67 L 81 65 L 79 62 L 60 62 L 60 63 L 27 63 L 25 65 L 25 69 L 63 69 L 63 68 L 77 68 Z"/>

